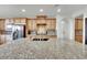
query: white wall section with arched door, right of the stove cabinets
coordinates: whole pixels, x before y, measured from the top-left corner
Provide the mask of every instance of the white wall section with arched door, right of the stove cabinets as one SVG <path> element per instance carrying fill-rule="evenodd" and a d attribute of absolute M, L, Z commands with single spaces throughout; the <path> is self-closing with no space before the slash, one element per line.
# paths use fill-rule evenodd
<path fill-rule="evenodd" d="M 74 40 L 74 19 L 56 17 L 56 31 L 57 39 L 69 39 Z M 64 34 L 65 32 L 65 34 Z"/>

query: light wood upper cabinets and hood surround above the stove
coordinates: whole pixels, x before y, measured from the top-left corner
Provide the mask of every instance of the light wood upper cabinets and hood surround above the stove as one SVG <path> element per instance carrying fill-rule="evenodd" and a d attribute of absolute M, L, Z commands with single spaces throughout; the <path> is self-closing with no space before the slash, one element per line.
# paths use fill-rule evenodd
<path fill-rule="evenodd" d="M 46 18 L 43 15 L 37 17 L 36 19 L 28 19 L 26 26 L 30 31 L 37 30 L 37 25 L 45 24 L 46 30 L 55 30 L 56 29 L 56 19 L 54 18 Z"/>

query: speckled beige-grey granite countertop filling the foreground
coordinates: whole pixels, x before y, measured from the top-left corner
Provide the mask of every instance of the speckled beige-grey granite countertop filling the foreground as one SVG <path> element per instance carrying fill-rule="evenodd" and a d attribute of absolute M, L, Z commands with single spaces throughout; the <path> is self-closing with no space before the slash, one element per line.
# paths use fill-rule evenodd
<path fill-rule="evenodd" d="M 67 40 L 30 41 L 21 39 L 0 45 L 0 59 L 87 58 L 80 43 Z"/>

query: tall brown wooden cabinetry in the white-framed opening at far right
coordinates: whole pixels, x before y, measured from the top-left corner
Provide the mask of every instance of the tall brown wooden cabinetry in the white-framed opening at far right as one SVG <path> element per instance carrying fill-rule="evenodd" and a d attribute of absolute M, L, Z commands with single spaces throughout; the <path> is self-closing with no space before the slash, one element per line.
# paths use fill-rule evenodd
<path fill-rule="evenodd" d="M 83 43 L 83 19 L 75 19 L 75 40 Z"/>

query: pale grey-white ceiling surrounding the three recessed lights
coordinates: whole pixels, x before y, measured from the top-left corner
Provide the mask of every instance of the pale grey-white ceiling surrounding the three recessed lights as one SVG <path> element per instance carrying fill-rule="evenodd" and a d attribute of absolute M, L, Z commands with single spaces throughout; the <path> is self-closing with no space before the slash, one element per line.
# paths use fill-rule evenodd
<path fill-rule="evenodd" d="M 0 4 L 0 18 L 34 18 L 37 14 L 70 17 L 86 7 L 86 4 Z M 22 12 L 22 9 L 26 11 Z M 40 9 L 44 11 L 40 12 Z M 57 12 L 57 9 L 61 9 L 61 12 Z"/>

